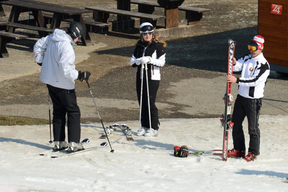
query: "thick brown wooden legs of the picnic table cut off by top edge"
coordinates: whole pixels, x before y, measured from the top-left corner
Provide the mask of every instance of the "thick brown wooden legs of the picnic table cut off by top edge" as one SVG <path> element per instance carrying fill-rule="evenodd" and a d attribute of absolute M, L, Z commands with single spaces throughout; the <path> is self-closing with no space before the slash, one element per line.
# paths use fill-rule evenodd
<path fill-rule="evenodd" d="M 115 0 L 117 1 L 117 9 L 130 11 L 130 0 Z M 164 8 L 165 11 L 165 28 L 178 27 L 178 7 L 182 5 L 184 0 L 157 0 L 158 4 Z M 120 20 L 119 20 L 120 19 Z M 117 20 L 123 21 L 124 16 L 117 17 Z"/>

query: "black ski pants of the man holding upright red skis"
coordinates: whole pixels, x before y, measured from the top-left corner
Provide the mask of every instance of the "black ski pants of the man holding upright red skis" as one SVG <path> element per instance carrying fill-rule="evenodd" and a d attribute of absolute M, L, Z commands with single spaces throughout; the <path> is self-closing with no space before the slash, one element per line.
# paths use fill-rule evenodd
<path fill-rule="evenodd" d="M 248 133 L 250 137 L 248 152 L 251 152 L 254 155 L 260 154 L 260 130 L 258 121 L 261 106 L 261 98 L 250 99 L 239 94 L 237 95 L 232 114 L 232 122 L 234 123 L 232 137 L 235 150 L 246 151 L 242 123 L 244 118 L 247 117 Z"/>

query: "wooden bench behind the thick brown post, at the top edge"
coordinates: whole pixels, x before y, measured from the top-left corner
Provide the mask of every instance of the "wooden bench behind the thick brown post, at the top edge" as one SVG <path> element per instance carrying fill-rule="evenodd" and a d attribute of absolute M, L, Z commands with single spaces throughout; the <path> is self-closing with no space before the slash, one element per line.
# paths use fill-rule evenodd
<path fill-rule="evenodd" d="M 131 0 L 131 3 L 138 5 L 138 12 L 140 13 L 152 14 L 155 7 L 161 7 L 157 2 L 149 0 Z M 211 11 L 211 9 L 190 6 L 179 6 L 178 10 L 186 12 L 187 25 L 200 23 L 203 18 L 203 12 Z"/>

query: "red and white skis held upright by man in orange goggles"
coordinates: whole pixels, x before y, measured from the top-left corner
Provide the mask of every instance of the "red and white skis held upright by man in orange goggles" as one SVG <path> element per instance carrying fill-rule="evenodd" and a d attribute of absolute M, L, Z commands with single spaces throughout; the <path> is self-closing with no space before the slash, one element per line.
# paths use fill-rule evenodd
<path fill-rule="evenodd" d="M 236 42 L 232 39 L 229 39 L 229 53 L 228 53 L 228 75 L 233 74 L 233 57 L 235 51 Z M 221 126 L 224 128 L 223 134 L 223 152 L 222 152 L 222 161 L 227 161 L 227 152 L 228 152 L 228 138 L 229 138 L 229 129 L 232 129 L 232 117 L 231 117 L 231 105 L 233 102 L 233 96 L 231 94 L 232 83 L 227 82 L 226 93 L 224 94 L 223 100 L 225 103 L 225 112 L 222 114 Z"/>

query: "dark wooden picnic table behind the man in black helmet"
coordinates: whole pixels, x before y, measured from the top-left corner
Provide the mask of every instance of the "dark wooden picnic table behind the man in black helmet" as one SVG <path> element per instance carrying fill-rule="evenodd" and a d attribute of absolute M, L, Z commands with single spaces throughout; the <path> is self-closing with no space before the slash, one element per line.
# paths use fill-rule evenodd
<path fill-rule="evenodd" d="M 52 22 L 50 24 L 51 29 L 59 28 L 61 22 L 65 19 L 73 19 L 76 22 L 80 22 L 86 28 L 82 14 L 93 12 L 91 10 L 55 5 L 51 3 L 39 2 L 34 0 L 8 0 L 0 2 L 0 4 L 12 6 L 8 22 L 12 22 L 15 24 L 17 23 L 26 25 L 32 24 L 34 26 L 37 25 L 42 28 L 47 28 L 47 25 L 44 22 L 45 20 L 42 15 L 42 11 L 51 12 L 53 13 Z M 29 20 L 31 19 L 26 21 L 19 21 L 19 15 L 22 12 L 32 12 L 35 19 L 34 22 L 29 23 Z M 15 28 L 8 27 L 7 31 L 14 32 Z M 90 39 L 88 30 L 86 30 L 86 34 L 84 35 L 84 37 L 81 38 L 81 41 L 86 46 L 92 45 L 92 41 Z"/>

